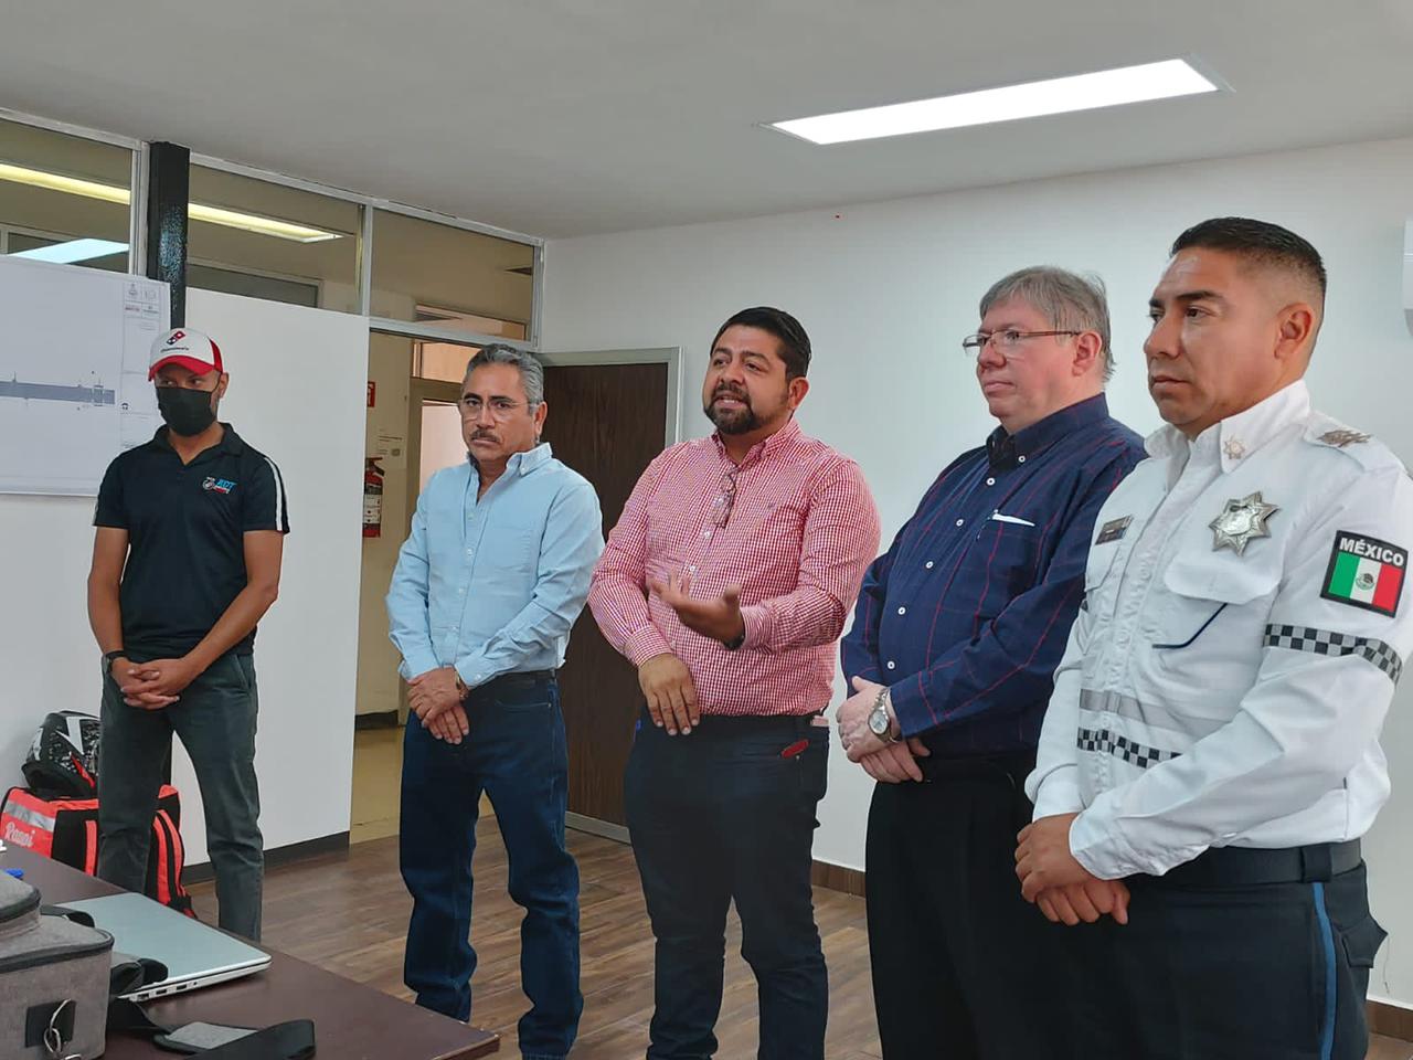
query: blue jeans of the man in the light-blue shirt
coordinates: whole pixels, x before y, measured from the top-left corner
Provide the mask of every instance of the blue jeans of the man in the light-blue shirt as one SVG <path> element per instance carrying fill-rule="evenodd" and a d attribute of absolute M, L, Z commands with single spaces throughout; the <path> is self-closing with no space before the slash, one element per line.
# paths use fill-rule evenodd
<path fill-rule="evenodd" d="M 407 719 L 401 868 L 413 896 L 403 978 L 417 1003 L 471 1018 L 471 858 L 480 793 L 490 796 L 510 861 L 520 923 L 521 1056 L 564 1057 L 584 1011 L 579 869 L 564 845 L 569 760 L 551 678 L 509 674 L 466 701 L 471 734 L 445 743 Z"/>

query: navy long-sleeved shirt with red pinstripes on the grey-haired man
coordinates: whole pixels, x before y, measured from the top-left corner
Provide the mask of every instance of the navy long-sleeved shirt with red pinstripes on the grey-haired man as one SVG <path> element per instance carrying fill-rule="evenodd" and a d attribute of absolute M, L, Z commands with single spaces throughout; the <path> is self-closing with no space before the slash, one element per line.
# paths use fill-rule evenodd
<path fill-rule="evenodd" d="M 889 685 L 934 756 L 1033 750 L 1095 516 L 1143 457 L 1102 394 L 958 457 L 869 567 L 845 677 Z"/>

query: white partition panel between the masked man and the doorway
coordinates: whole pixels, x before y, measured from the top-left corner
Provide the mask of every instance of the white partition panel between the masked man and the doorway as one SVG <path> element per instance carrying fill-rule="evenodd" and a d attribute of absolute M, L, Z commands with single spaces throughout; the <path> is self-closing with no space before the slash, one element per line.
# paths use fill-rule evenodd
<path fill-rule="evenodd" d="M 191 291 L 187 322 L 219 336 L 230 369 L 222 418 L 280 465 L 290 500 L 280 599 L 256 639 L 260 828 L 266 848 L 287 847 L 349 828 L 367 318 Z M 185 756 L 172 782 L 188 858 L 205 861 Z"/>

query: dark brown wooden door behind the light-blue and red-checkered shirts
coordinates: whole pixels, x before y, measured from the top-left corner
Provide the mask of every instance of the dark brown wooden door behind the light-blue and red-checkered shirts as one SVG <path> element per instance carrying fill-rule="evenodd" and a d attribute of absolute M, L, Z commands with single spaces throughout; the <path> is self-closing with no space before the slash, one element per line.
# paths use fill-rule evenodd
<path fill-rule="evenodd" d="M 639 476 L 663 451 L 668 366 L 547 365 L 544 387 L 544 440 L 593 483 L 606 537 Z M 569 811 L 622 825 L 623 769 L 643 693 L 637 670 L 603 639 L 588 608 L 569 636 L 560 693 L 569 741 Z"/>

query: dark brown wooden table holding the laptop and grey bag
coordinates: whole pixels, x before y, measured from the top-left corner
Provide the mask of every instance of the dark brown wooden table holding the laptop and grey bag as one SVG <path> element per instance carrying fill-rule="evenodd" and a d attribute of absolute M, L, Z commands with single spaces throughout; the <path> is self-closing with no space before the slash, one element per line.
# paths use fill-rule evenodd
<path fill-rule="evenodd" d="M 114 895 L 117 888 L 78 869 L 8 847 L 0 869 L 24 869 L 47 905 Z M 158 1023 L 194 1020 L 263 1027 L 287 1019 L 312 1019 L 318 1054 L 339 1060 L 469 1060 L 500 1047 L 496 1035 L 398 1001 L 333 975 L 288 954 L 270 950 L 270 967 L 232 982 L 144 1005 Z M 172 1053 L 143 1039 L 113 1035 L 105 1060 L 171 1060 Z"/>

